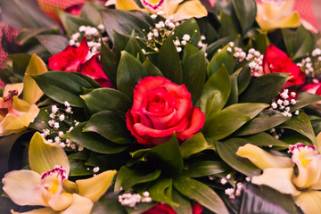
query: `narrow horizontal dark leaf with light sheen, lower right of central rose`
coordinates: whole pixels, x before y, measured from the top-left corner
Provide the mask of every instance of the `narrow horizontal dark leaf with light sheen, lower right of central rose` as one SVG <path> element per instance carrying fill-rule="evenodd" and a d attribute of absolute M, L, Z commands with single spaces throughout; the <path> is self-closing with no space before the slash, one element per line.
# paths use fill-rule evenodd
<path fill-rule="evenodd" d="M 229 169 L 229 166 L 222 161 L 197 161 L 188 165 L 188 169 L 182 175 L 185 177 L 206 177 Z"/>

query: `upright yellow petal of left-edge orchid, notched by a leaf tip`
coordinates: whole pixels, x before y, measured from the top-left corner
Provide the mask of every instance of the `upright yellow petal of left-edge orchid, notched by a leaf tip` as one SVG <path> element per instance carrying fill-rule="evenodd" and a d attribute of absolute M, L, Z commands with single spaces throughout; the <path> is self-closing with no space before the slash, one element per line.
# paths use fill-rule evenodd
<path fill-rule="evenodd" d="M 25 76 L 23 78 L 23 94 L 22 99 L 27 101 L 29 104 L 36 103 L 44 93 L 40 87 L 37 86 L 36 81 L 31 76 L 40 75 L 45 73 L 47 70 L 45 62 L 36 54 L 32 54 L 27 67 Z"/>

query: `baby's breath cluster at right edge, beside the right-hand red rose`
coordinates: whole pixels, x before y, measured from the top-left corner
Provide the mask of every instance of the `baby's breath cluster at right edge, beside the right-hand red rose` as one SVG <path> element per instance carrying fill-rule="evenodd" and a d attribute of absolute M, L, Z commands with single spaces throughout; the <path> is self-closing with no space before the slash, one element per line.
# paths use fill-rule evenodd
<path fill-rule="evenodd" d="M 316 75 L 321 73 L 321 49 L 314 49 L 310 56 L 302 59 L 297 65 L 307 76 L 315 78 Z"/>

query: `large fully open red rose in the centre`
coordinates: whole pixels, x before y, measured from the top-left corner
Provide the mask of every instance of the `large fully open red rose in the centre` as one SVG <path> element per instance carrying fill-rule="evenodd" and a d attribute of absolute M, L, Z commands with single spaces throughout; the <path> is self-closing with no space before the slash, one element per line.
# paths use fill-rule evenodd
<path fill-rule="evenodd" d="M 134 89 L 134 103 L 126 114 L 127 127 L 139 144 L 158 145 L 175 132 L 185 140 L 204 125 L 205 115 L 193 108 L 185 85 L 167 78 L 143 78 Z"/>

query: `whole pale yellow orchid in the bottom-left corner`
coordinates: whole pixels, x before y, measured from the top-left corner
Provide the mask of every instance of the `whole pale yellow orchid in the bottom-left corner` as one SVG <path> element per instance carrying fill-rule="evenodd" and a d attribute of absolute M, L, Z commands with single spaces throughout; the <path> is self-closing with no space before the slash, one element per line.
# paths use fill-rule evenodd
<path fill-rule="evenodd" d="M 29 165 L 31 170 L 8 172 L 2 180 L 12 202 L 44 206 L 25 214 L 89 214 L 116 174 L 116 170 L 109 170 L 76 183 L 68 180 L 70 163 L 66 153 L 58 144 L 45 142 L 39 133 L 30 141 Z"/>

